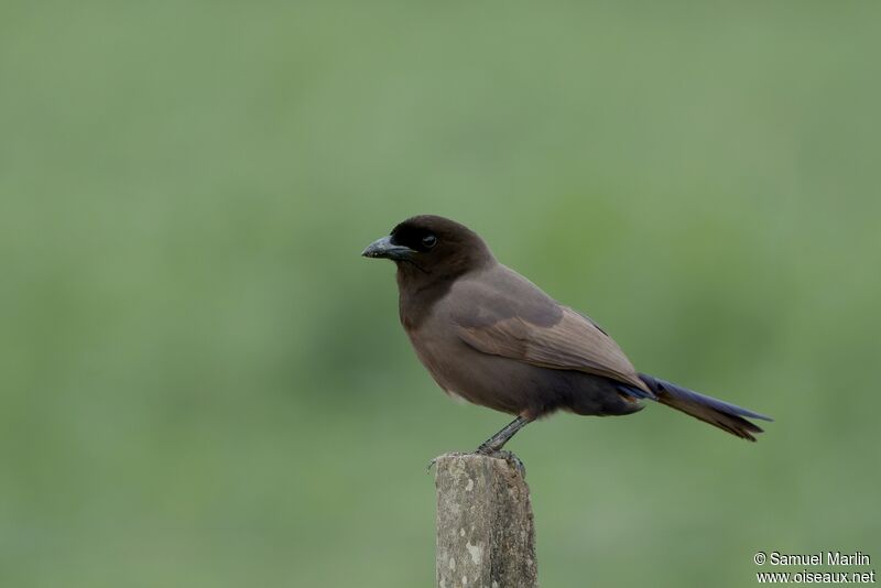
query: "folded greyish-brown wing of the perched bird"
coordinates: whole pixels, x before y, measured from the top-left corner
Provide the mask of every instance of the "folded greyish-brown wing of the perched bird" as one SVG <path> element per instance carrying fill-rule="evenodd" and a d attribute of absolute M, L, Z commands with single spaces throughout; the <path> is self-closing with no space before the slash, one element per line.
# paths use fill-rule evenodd
<path fill-rule="evenodd" d="M 454 315 L 459 338 L 483 353 L 603 375 L 651 394 L 611 337 L 586 316 L 558 305 L 522 280 L 541 296 L 524 300 L 497 288 L 474 292 L 471 306 Z M 523 293 L 523 286 L 512 290 Z"/>

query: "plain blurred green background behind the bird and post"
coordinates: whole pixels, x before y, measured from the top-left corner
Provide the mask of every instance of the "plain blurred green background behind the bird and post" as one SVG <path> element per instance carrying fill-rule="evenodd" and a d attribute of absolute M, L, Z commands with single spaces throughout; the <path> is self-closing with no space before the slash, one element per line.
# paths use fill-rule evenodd
<path fill-rule="evenodd" d="M 662 406 L 521 433 L 543 586 L 881 558 L 877 2 L 0 6 L 0 585 L 434 581 L 450 402 L 359 258 L 421 213 Z M 797 571 L 797 569 L 793 569 Z"/>

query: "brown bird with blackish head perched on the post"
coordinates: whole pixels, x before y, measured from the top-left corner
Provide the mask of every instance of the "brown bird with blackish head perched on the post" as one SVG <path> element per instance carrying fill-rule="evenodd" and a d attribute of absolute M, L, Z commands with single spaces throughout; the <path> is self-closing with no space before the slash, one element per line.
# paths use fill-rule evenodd
<path fill-rule="evenodd" d="M 420 215 L 361 255 L 395 263 L 399 317 L 416 356 L 449 395 L 515 418 L 476 449 L 499 453 L 527 424 L 558 411 L 621 416 L 646 401 L 737 437 L 763 414 L 637 372 L 609 334 L 500 263 L 475 231 Z"/>

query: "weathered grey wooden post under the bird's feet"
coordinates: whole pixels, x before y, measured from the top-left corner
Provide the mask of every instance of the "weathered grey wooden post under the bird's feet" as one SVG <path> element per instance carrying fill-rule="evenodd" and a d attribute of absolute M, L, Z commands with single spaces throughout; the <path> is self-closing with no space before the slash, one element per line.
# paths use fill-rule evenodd
<path fill-rule="evenodd" d="M 519 464 L 511 454 L 435 460 L 438 588 L 539 586 L 530 489 Z"/>

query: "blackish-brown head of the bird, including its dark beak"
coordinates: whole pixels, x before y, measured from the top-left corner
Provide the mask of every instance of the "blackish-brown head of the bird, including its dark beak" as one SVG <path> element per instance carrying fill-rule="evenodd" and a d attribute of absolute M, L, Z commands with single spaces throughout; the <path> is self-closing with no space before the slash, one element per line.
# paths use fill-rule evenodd
<path fill-rule="evenodd" d="M 455 220 L 434 215 L 409 218 L 388 237 L 370 243 L 366 258 L 390 259 L 399 273 L 455 277 L 487 264 L 494 258 L 476 232 Z"/>

